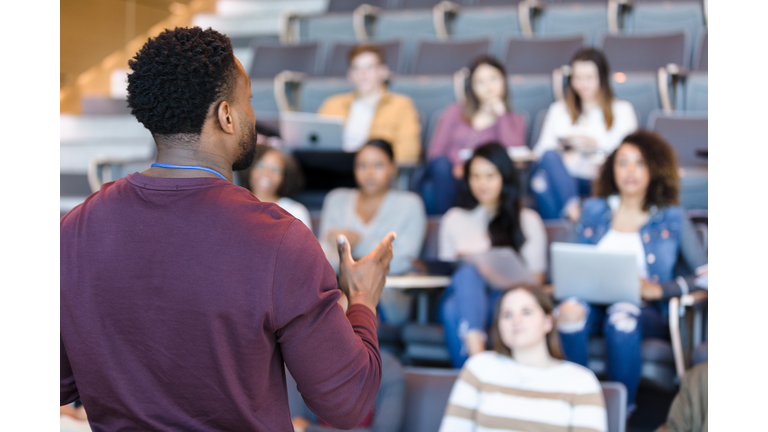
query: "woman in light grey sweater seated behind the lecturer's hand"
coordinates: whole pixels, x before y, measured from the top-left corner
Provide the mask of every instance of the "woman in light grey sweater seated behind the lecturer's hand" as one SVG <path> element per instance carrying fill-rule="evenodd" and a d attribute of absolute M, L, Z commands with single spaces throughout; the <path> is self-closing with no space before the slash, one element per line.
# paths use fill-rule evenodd
<path fill-rule="evenodd" d="M 390 231 L 397 233 L 392 244 L 389 273 L 413 271 L 413 260 L 421 253 L 427 229 L 424 203 L 413 192 L 390 189 L 397 168 L 392 146 L 371 140 L 355 156 L 356 189 L 338 188 L 328 193 L 320 214 L 320 244 L 328 261 L 338 271 L 336 238 L 347 236 L 352 257 L 362 257 Z M 408 318 L 411 296 L 385 289 L 379 304 L 382 319 L 398 325 Z"/>

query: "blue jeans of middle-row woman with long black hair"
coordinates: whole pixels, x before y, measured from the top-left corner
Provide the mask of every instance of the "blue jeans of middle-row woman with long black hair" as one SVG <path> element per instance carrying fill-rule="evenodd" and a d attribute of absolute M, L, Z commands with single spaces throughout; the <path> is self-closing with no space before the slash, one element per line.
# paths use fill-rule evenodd
<path fill-rule="evenodd" d="M 461 368 L 468 352 L 464 335 L 469 330 L 485 332 L 501 291 L 491 290 L 474 266 L 463 264 L 451 278 L 440 303 L 440 321 L 445 328 L 445 344 L 451 363 Z"/>

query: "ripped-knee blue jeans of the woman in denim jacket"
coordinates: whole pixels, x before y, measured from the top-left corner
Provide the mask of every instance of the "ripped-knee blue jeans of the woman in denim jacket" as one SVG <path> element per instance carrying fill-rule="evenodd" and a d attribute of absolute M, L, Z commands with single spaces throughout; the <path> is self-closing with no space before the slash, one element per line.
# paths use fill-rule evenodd
<path fill-rule="evenodd" d="M 653 305 L 639 308 L 629 303 L 617 303 L 605 307 L 577 301 L 586 309 L 586 323 L 580 329 L 559 329 L 565 358 L 586 367 L 589 337 L 602 333 L 605 336 L 608 379 L 627 386 L 627 404 L 632 406 L 640 384 L 642 340 L 669 339 L 666 321 Z"/>

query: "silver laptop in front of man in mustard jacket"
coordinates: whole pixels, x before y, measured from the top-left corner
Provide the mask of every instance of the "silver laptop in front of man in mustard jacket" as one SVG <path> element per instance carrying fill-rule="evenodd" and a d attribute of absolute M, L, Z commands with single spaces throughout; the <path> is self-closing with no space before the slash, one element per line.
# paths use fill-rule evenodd
<path fill-rule="evenodd" d="M 343 151 L 344 117 L 281 112 L 280 135 L 289 150 Z"/>

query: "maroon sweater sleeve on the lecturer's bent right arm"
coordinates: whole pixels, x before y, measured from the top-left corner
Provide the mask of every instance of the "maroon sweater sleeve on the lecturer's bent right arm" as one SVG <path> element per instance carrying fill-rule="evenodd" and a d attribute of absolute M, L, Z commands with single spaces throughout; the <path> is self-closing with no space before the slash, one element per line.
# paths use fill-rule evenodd
<path fill-rule="evenodd" d="M 350 429 L 373 407 L 381 357 L 373 312 L 352 305 L 345 317 L 340 296 L 320 245 L 294 220 L 276 256 L 271 326 L 309 409 L 334 427 Z"/>

